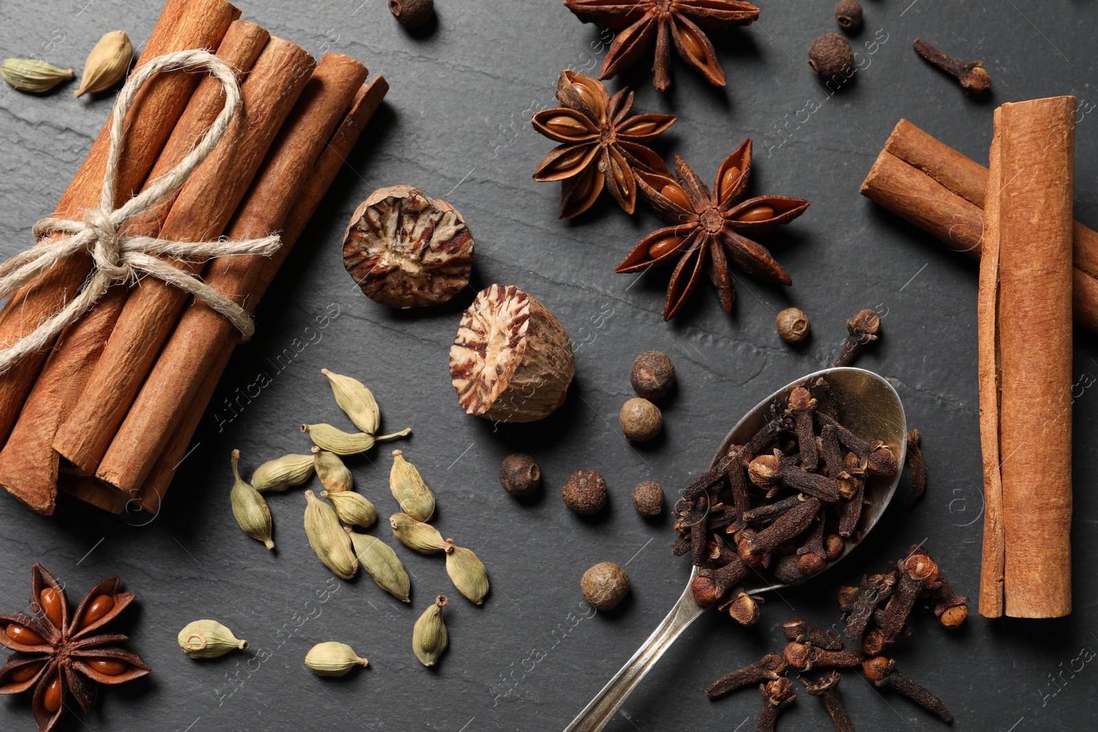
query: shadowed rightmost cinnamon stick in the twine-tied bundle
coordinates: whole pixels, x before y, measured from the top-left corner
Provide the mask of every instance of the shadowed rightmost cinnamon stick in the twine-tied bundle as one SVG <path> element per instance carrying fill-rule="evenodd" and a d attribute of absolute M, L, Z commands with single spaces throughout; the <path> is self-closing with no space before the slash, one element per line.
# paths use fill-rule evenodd
<path fill-rule="evenodd" d="M 350 154 L 359 135 L 369 123 L 373 113 L 378 110 L 385 93 L 389 91 L 389 83 L 384 77 L 376 77 L 369 85 L 363 87 L 355 98 L 355 103 L 344 119 L 339 128 L 328 140 L 327 147 L 321 155 L 313 171 L 309 174 L 301 195 L 294 204 L 293 210 L 287 218 L 282 229 L 283 247 L 292 246 L 305 230 L 309 219 L 313 217 L 321 200 L 327 192 L 336 174 L 343 168 L 347 156 Z M 277 255 L 276 255 L 277 257 Z M 271 281 L 278 267 L 274 261 L 267 263 L 267 269 L 260 275 L 255 290 L 255 300 L 258 302 Z M 141 505 L 145 510 L 156 513 L 159 510 L 159 502 L 168 491 L 171 478 L 179 468 L 180 461 L 190 450 L 190 441 L 198 429 L 202 416 L 205 414 L 206 405 L 213 396 L 217 386 L 217 380 L 228 364 L 233 354 L 233 342 L 222 345 L 222 350 L 217 361 L 209 372 L 208 379 L 202 383 L 199 392 L 189 405 L 183 407 L 183 416 L 176 427 L 175 432 L 168 440 L 167 447 L 160 454 L 148 477 L 141 488 Z M 112 488 L 112 491 L 114 491 Z M 114 491 L 114 493 L 120 493 Z"/>

